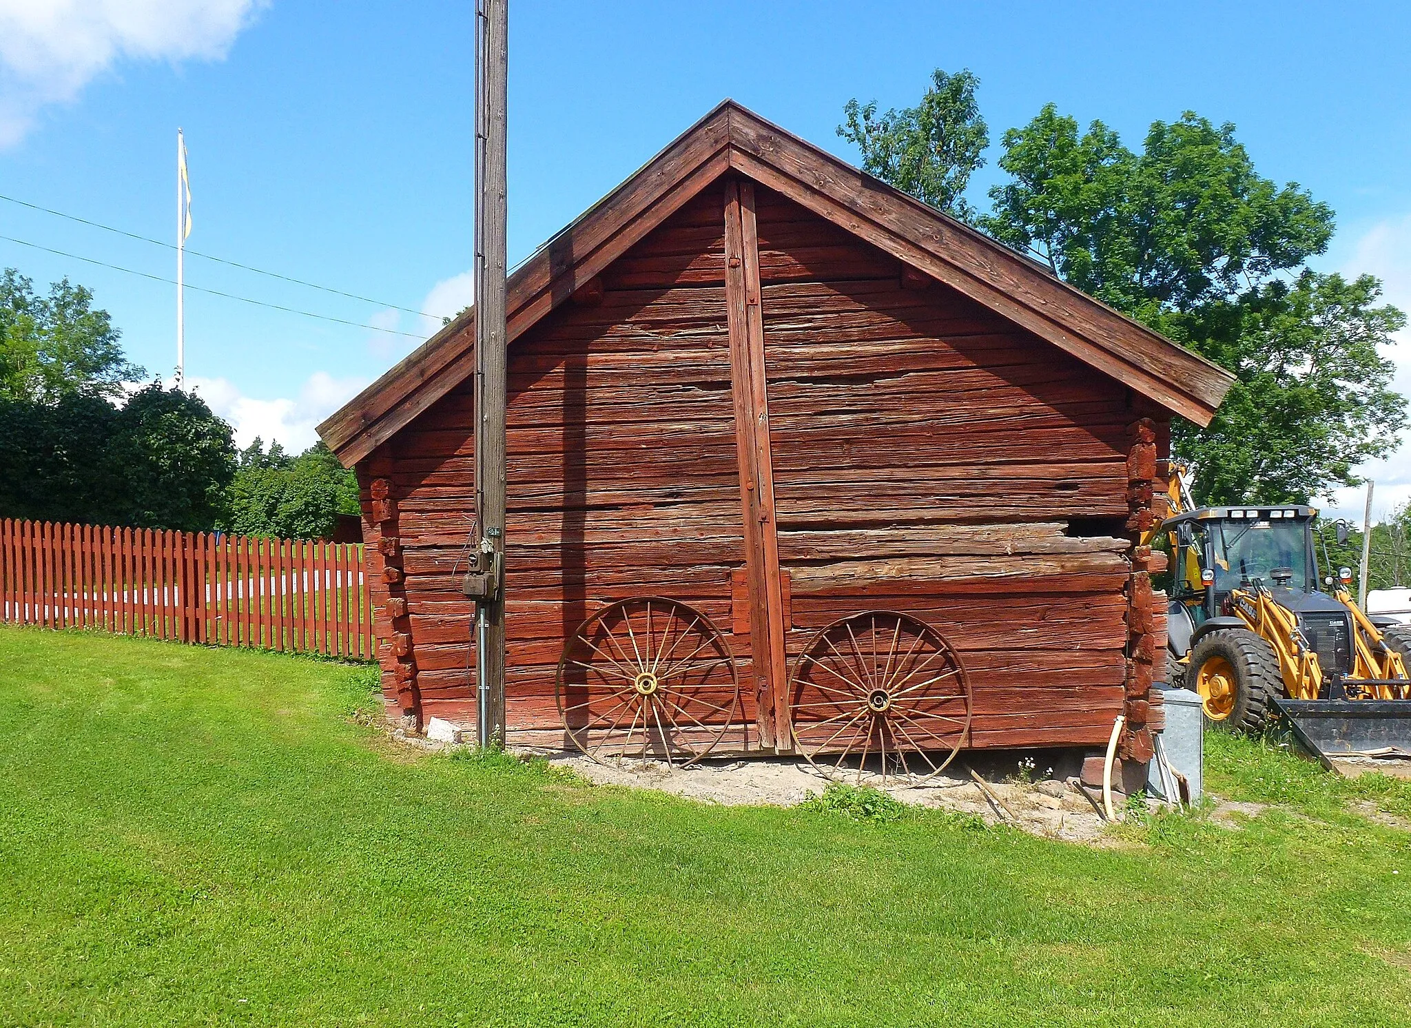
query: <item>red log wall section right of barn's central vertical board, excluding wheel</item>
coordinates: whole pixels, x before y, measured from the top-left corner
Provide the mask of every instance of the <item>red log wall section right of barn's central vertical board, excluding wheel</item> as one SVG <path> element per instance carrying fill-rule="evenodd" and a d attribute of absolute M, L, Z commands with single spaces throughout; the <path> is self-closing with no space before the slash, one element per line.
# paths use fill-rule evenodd
<path fill-rule="evenodd" d="M 758 190 L 789 656 L 835 618 L 938 628 L 974 746 L 1096 745 L 1122 711 L 1125 391 L 972 300 Z"/>

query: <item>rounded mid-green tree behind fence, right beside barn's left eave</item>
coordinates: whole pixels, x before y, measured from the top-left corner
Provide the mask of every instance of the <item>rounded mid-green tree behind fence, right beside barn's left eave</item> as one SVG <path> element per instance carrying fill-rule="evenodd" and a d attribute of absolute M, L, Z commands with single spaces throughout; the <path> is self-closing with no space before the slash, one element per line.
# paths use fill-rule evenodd
<path fill-rule="evenodd" d="M 240 454 L 226 526 L 250 536 L 329 539 L 337 516 L 358 513 L 357 478 L 322 441 L 298 457 L 260 439 Z"/>

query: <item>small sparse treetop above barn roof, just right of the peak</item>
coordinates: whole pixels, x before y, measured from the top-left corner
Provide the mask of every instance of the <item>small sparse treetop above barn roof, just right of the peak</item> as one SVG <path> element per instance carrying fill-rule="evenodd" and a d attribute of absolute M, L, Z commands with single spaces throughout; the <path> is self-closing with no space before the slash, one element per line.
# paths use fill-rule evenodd
<path fill-rule="evenodd" d="M 971 175 L 985 165 L 989 128 L 975 102 L 979 79 L 967 68 L 931 72 L 931 87 L 916 107 L 878 114 L 876 100 L 844 107 L 838 135 L 862 151 L 862 169 L 938 210 L 964 220 Z"/>

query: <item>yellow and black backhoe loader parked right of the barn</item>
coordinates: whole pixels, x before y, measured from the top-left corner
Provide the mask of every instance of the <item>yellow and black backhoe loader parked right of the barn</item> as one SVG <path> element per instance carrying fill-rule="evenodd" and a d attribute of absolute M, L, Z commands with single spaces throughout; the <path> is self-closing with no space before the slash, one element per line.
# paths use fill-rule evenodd
<path fill-rule="evenodd" d="M 1167 677 L 1205 716 L 1260 732 L 1283 714 L 1329 756 L 1411 759 L 1411 626 L 1367 616 L 1348 568 L 1319 581 L 1312 523 L 1295 503 L 1195 508 L 1173 468 L 1173 516 L 1149 541 L 1167 554 Z M 1326 591 L 1319 587 L 1326 587 Z"/>

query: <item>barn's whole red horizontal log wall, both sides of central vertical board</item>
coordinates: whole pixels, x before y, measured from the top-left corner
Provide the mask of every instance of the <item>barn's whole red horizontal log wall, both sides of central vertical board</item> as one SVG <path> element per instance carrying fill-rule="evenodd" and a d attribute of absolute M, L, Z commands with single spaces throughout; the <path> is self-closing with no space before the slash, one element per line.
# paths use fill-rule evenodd
<path fill-rule="evenodd" d="M 1106 742 L 1116 714 L 1146 712 L 1134 661 L 1164 630 L 1158 613 L 1129 625 L 1141 412 L 1029 331 L 756 196 L 787 656 L 835 618 L 907 611 L 969 668 L 972 745 Z M 751 677 L 722 199 L 703 192 L 511 351 L 512 743 L 564 742 L 564 636 L 612 599 L 700 606 Z M 464 384 L 360 465 L 388 695 L 422 723 L 474 716 L 459 589 L 473 423 Z M 741 732 L 753 722 L 746 690 Z"/>

